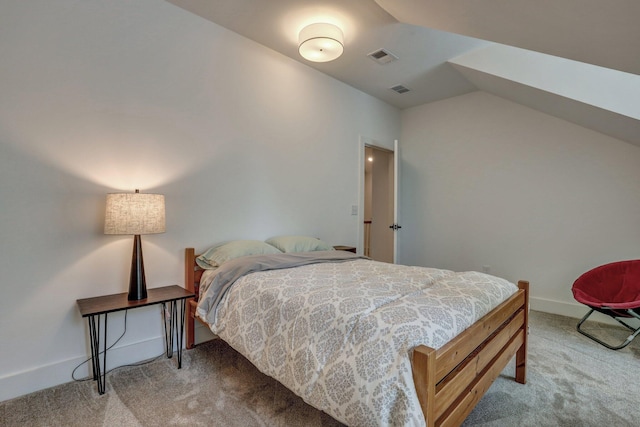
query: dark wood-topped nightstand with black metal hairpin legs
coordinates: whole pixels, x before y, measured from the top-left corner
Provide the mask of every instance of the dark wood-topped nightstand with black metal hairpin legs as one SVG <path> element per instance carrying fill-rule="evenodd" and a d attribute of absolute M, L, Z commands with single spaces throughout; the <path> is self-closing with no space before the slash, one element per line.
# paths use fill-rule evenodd
<path fill-rule="evenodd" d="M 108 314 L 116 311 L 130 310 L 149 305 L 162 304 L 162 310 L 166 312 L 169 304 L 169 326 L 164 322 L 165 352 L 167 358 L 173 357 L 173 343 L 177 344 L 178 369 L 182 368 L 182 339 L 184 335 L 185 303 L 195 294 L 178 285 L 152 288 L 147 291 L 147 298 L 139 301 L 127 300 L 127 293 L 104 295 L 95 298 L 76 300 L 82 317 L 89 322 L 89 339 L 91 341 L 91 363 L 93 367 L 93 379 L 98 383 L 98 393 L 104 394 L 105 379 L 107 376 L 107 320 Z M 178 303 L 180 302 L 180 310 Z M 102 331 L 100 330 L 100 317 L 104 316 Z M 178 322 L 179 320 L 179 322 Z M 104 338 L 102 350 L 100 339 Z M 102 354 L 102 363 L 100 362 Z"/>

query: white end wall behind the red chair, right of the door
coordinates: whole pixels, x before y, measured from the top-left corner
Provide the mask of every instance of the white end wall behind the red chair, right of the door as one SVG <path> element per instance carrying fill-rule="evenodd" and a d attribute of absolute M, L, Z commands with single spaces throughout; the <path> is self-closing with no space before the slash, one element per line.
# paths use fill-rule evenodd
<path fill-rule="evenodd" d="M 638 258 L 640 147 L 484 92 L 401 116 L 402 263 L 488 266 L 581 316 L 573 281 Z"/>

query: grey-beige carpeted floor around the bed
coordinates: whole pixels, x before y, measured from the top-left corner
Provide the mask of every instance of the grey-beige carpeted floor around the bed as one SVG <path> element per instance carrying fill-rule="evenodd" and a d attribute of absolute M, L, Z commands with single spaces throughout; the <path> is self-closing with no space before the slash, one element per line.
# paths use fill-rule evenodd
<path fill-rule="evenodd" d="M 528 382 L 513 365 L 464 426 L 636 426 L 640 419 L 640 343 L 608 350 L 575 331 L 575 319 L 531 312 Z M 622 341 L 622 328 L 599 326 Z M 2 426 L 341 426 L 308 406 L 224 342 L 175 359 L 126 367 L 92 381 L 63 384 L 0 402 Z"/>

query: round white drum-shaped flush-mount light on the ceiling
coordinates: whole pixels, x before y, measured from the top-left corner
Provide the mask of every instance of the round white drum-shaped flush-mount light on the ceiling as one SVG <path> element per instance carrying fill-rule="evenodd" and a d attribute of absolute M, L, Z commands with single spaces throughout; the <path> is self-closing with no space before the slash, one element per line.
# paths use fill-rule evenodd
<path fill-rule="evenodd" d="M 298 52 L 306 60 L 329 62 L 344 51 L 342 30 L 333 24 L 311 24 L 298 34 Z"/>

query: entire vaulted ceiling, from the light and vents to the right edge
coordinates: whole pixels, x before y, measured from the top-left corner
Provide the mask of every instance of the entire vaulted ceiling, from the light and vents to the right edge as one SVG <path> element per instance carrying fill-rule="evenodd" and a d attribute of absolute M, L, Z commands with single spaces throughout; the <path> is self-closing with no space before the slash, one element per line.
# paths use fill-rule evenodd
<path fill-rule="evenodd" d="M 640 145 L 637 0 L 167 1 L 398 108 L 481 89 Z M 298 54 L 315 22 L 342 28 L 337 60 Z"/>

